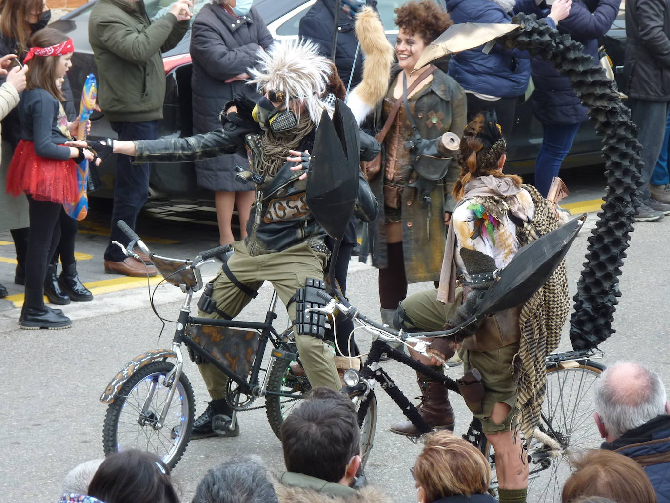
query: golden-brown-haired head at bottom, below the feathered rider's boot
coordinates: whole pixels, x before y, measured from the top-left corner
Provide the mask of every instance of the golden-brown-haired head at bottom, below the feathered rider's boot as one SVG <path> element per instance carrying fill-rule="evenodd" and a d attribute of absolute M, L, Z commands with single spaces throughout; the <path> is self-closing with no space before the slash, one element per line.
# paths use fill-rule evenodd
<path fill-rule="evenodd" d="M 474 496 L 473 503 L 494 502 L 488 486 L 491 468 L 486 458 L 470 442 L 449 431 L 429 435 L 412 469 L 416 480 L 417 501 L 432 503 L 451 496 Z"/>

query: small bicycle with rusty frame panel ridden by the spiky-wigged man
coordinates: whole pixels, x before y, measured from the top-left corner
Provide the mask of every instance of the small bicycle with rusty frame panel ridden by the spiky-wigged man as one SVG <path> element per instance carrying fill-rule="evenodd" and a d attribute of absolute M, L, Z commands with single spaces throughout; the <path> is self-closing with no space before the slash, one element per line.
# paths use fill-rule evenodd
<path fill-rule="evenodd" d="M 119 228 L 131 239 L 127 247 L 116 243 L 124 253 L 139 258 L 133 251 L 139 248 L 151 257 L 163 280 L 180 287 L 186 298 L 176 321 L 171 349 L 153 349 L 133 358 L 100 396 L 101 402 L 109 404 L 103 427 L 105 454 L 135 447 L 155 453 L 171 468 L 181 459 L 195 413 L 193 390 L 183 372 L 182 345 L 192 359 L 200 357 L 230 378 L 227 390 L 228 405 L 233 410 L 228 422 L 230 430 L 235 429 L 237 412 L 265 408 L 271 429 L 279 438 L 284 418 L 311 386 L 308 378 L 291 369 L 291 362 L 300 364 L 292 329 L 278 333 L 273 327 L 277 318 L 277 292 L 271 296 L 263 322 L 192 317 L 193 294 L 204 286 L 200 269 L 213 263 L 214 258 L 227 260 L 230 245 L 203 251 L 194 260 L 168 258 L 153 254 L 123 221 L 119 221 Z M 151 297 L 150 300 L 159 316 Z M 263 368 L 268 343 L 270 359 Z M 265 372 L 262 382 L 261 372 Z M 360 405 L 360 394 L 352 392 L 349 396 L 356 406 Z M 265 398 L 265 405 L 252 407 L 257 398 Z M 361 429 L 363 465 L 373 445 L 377 418 L 376 398 L 370 394 L 366 398 L 370 413 L 366 414 L 369 418 L 362 422 Z"/>

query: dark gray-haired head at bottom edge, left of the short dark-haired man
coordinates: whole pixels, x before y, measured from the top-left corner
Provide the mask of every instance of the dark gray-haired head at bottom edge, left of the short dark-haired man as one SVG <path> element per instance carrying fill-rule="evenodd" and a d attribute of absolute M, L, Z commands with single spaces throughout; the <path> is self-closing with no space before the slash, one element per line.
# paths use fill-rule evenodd
<path fill-rule="evenodd" d="M 210 469 L 192 503 L 278 503 L 269 471 L 258 456 L 240 456 Z"/>

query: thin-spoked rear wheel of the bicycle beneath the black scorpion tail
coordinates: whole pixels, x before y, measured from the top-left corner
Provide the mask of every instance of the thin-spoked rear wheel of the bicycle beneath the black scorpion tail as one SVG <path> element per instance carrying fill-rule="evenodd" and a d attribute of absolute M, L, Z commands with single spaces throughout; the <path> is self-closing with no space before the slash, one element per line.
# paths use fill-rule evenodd
<path fill-rule="evenodd" d="M 584 359 L 547 364 L 547 388 L 538 429 L 545 442 L 529 443 L 528 500 L 561 500 L 561 490 L 571 470 L 570 458 L 585 449 L 595 449 L 602 439 L 593 420 L 593 385 L 604 366 Z M 491 487 L 498 487 L 495 453 L 481 435 L 479 448 L 492 469 Z"/>

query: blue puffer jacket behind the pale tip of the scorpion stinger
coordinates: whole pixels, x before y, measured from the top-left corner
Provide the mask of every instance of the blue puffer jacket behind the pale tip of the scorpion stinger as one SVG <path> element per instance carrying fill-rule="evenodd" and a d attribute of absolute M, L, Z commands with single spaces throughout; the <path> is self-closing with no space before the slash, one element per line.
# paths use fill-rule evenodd
<path fill-rule="evenodd" d="M 530 3 L 535 5 L 534 1 Z M 514 0 L 448 0 L 447 11 L 454 23 L 509 23 L 520 5 L 515 7 Z M 523 95 L 530 77 L 530 55 L 500 45 L 484 54 L 482 48 L 454 54 L 449 63 L 450 76 L 466 91 L 501 98 Z"/>

